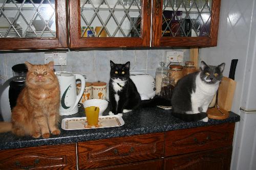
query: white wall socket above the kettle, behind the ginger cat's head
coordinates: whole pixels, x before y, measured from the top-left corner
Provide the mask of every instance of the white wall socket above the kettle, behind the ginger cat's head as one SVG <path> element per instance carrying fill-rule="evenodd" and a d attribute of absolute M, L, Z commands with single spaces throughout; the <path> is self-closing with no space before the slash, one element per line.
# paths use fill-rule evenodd
<path fill-rule="evenodd" d="M 50 61 L 53 61 L 54 65 L 67 65 L 67 53 L 45 53 L 45 64 Z"/>

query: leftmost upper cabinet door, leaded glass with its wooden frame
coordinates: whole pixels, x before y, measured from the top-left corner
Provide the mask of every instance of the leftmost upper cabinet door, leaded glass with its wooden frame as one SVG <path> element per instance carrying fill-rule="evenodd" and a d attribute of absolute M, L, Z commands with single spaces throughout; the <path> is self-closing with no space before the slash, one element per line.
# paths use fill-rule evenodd
<path fill-rule="evenodd" d="M 58 15 L 57 11 L 64 12 L 66 15 L 65 0 L 0 0 L 0 41 L 13 42 L 15 40 L 18 42 L 27 39 L 27 42 L 21 44 L 20 49 L 67 47 L 67 40 L 64 40 L 66 45 L 57 42 L 59 40 L 57 35 L 58 18 L 65 19 L 62 21 L 65 27 L 63 28 L 63 23 L 61 23 L 59 28 L 62 29 L 61 32 L 67 32 L 66 16 Z M 41 41 L 42 39 L 45 41 Z M 51 39 L 53 44 L 51 46 L 44 45 L 46 39 Z M 8 43 L 8 41 L 5 42 Z M 13 49 L 11 46 L 9 48 Z"/>

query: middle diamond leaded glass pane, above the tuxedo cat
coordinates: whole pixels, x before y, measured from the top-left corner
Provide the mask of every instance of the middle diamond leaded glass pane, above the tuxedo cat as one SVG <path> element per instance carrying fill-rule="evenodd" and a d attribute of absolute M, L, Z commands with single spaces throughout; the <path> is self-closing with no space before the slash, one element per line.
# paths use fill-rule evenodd
<path fill-rule="evenodd" d="M 80 0 L 81 37 L 141 37 L 142 0 Z"/>

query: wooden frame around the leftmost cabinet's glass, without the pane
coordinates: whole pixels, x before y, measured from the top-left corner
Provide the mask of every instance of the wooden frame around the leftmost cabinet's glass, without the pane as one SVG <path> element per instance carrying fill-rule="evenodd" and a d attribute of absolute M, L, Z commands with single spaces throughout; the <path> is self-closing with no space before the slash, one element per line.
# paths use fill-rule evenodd
<path fill-rule="evenodd" d="M 55 0 L 56 38 L 1 38 L 0 50 L 68 48 L 66 0 Z"/>

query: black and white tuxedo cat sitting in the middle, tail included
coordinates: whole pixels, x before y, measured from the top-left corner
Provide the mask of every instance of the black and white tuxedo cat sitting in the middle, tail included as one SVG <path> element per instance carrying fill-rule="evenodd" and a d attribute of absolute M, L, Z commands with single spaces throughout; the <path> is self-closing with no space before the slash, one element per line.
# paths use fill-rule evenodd
<path fill-rule="evenodd" d="M 109 82 L 109 115 L 130 112 L 138 107 L 155 107 L 157 105 L 170 106 L 170 101 L 163 98 L 153 98 L 141 101 L 140 94 L 130 79 L 130 62 L 115 64 L 110 61 Z"/>

